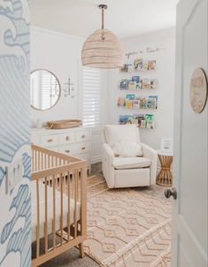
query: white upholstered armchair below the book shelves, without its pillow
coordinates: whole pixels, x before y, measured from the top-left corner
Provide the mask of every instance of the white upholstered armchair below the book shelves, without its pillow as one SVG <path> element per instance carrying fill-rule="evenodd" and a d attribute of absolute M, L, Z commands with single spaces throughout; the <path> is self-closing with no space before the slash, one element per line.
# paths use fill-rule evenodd
<path fill-rule="evenodd" d="M 130 140 L 142 146 L 143 157 L 116 157 L 113 147 Z M 157 152 L 140 142 L 135 125 L 106 125 L 103 130 L 102 166 L 109 188 L 156 184 Z"/>

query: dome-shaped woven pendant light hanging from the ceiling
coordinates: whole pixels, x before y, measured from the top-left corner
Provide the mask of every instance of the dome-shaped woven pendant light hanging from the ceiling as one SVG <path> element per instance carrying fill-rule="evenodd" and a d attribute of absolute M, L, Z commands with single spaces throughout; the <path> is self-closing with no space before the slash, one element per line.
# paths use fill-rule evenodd
<path fill-rule="evenodd" d="M 124 51 L 119 39 L 110 30 L 104 29 L 104 10 L 107 5 L 100 4 L 102 28 L 89 35 L 81 51 L 82 65 L 97 68 L 119 68 L 123 64 Z"/>

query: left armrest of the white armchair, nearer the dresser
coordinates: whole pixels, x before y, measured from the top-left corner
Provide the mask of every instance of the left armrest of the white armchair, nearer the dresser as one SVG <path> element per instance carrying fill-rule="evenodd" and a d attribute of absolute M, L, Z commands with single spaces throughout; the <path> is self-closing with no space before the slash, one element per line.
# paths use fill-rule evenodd
<path fill-rule="evenodd" d="M 112 147 L 107 143 L 102 146 L 102 169 L 105 180 L 109 188 L 114 187 L 114 167 L 113 167 L 114 153 Z"/>

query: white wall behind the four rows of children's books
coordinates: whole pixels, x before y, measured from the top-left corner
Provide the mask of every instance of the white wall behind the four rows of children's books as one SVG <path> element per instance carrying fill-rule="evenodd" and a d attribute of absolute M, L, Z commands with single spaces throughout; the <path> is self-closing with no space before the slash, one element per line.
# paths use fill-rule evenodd
<path fill-rule="evenodd" d="M 158 95 L 158 110 L 147 111 L 155 114 L 156 129 L 141 129 L 141 139 L 144 143 L 155 149 L 160 146 L 162 137 L 173 137 L 173 91 L 174 91 L 174 57 L 175 57 L 175 35 L 174 29 L 155 32 L 148 35 L 139 35 L 122 40 L 126 52 L 143 51 L 130 59 L 125 57 L 125 63 L 134 62 L 135 58 L 156 59 L 157 70 L 143 72 L 143 78 L 156 78 L 157 90 L 142 90 L 142 96 Z M 155 52 L 147 52 L 147 49 L 162 49 Z M 137 75 L 137 74 L 136 74 Z M 140 74 L 139 74 L 140 75 Z M 119 90 L 119 81 L 128 78 L 132 74 L 120 73 L 119 70 L 110 70 L 108 77 L 108 122 L 118 123 L 119 114 L 137 114 L 143 111 L 130 111 L 117 107 L 117 98 L 125 97 L 127 92 Z M 131 93 L 129 91 L 129 93 Z M 132 92 L 134 93 L 134 92 Z M 135 95 L 140 95 L 135 92 Z M 145 112 L 144 112 L 145 113 Z"/>

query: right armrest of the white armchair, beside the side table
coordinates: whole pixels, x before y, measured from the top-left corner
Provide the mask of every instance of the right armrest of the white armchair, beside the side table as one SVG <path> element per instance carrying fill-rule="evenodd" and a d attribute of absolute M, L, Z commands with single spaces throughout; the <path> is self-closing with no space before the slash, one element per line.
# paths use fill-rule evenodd
<path fill-rule="evenodd" d="M 155 149 L 150 147 L 149 145 L 141 143 L 143 148 L 143 156 L 144 158 L 148 158 L 151 160 L 150 165 L 150 185 L 156 184 L 156 175 L 157 175 L 157 162 L 158 162 L 158 153 Z"/>

